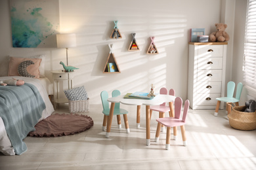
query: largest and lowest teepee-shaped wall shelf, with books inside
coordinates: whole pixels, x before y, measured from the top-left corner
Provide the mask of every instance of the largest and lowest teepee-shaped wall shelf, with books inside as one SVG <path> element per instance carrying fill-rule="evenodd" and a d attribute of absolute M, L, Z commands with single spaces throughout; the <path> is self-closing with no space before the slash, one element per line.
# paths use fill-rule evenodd
<path fill-rule="evenodd" d="M 103 73 L 120 73 L 116 58 L 113 54 L 113 44 L 108 44 L 108 46 L 110 47 L 110 54 L 108 54 L 108 59 L 106 61 Z"/>

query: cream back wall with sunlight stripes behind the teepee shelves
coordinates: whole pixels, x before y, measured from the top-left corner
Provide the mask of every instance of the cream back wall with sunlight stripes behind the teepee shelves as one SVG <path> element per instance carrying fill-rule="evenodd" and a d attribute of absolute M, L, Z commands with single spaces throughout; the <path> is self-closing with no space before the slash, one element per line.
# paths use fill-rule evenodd
<path fill-rule="evenodd" d="M 204 27 L 205 33 L 215 31 L 221 20 L 221 0 L 196 1 L 100 1 L 60 0 L 60 32 L 76 33 L 77 47 L 70 48 L 69 63 L 77 70 L 75 86 L 85 86 L 91 103 L 100 103 L 100 92 L 121 93 L 150 90 L 150 84 L 174 88 L 177 95 L 186 99 L 188 76 L 188 30 Z M 109 39 L 118 20 L 123 39 Z M 47 55 L 47 76 L 62 69 L 66 50 L 60 48 L 12 48 L 9 1 L 0 1 L 0 62 L 7 56 Z M 140 52 L 128 52 L 131 33 Z M 154 36 L 158 55 L 146 55 L 150 37 Z M 119 74 L 103 74 L 108 57 L 108 44 L 114 43 L 114 54 L 121 70 Z M 231 67 L 232 63 L 228 63 Z"/>

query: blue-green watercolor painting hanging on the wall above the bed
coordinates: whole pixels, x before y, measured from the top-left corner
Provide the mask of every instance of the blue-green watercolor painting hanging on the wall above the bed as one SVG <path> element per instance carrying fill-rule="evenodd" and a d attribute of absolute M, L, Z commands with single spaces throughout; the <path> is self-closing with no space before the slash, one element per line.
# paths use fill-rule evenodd
<path fill-rule="evenodd" d="M 56 47 L 59 32 L 58 0 L 11 0 L 12 46 Z"/>

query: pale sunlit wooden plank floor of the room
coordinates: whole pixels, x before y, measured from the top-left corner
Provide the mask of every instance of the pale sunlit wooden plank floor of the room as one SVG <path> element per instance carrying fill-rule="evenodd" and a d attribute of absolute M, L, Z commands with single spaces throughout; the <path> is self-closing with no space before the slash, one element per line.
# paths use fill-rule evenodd
<path fill-rule="evenodd" d="M 131 133 L 121 130 L 116 118 L 106 139 L 102 131 L 101 105 L 90 105 L 94 126 L 83 133 L 66 137 L 26 137 L 28 151 L 20 156 L 0 154 L 0 169 L 256 169 L 256 131 L 240 131 L 229 126 L 224 110 L 189 110 L 186 124 L 187 146 L 171 139 L 165 150 L 165 133 L 154 142 L 156 118 L 151 124 L 151 144 L 146 146 L 145 107 L 142 106 L 140 128 L 136 127 L 136 107 L 129 110 Z M 68 112 L 66 106 L 55 112 Z M 167 116 L 167 114 L 166 114 Z"/>

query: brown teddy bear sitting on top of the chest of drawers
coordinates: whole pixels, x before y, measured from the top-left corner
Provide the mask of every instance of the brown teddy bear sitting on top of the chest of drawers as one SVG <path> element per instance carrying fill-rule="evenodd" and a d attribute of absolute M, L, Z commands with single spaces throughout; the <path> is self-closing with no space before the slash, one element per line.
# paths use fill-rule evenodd
<path fill-rule="evenodd" d="M 225 29 L 228 25 L 219 23 L 215 24 L 216 30 L 215 32 L 209 35 L 209 42 L 224 42 L 229 41 L 229 35 L 226 33 Z"/>

